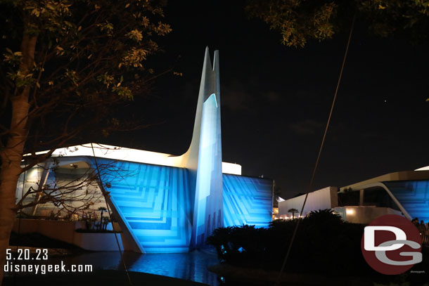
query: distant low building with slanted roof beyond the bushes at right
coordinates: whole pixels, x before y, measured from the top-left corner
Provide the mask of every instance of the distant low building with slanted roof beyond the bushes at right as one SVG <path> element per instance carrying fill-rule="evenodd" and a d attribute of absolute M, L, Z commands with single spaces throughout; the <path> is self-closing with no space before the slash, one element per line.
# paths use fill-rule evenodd
<path fill-rule="evenodd" d="M 305 195 L 278 203 L 277 219 L 290 219 L 288 210 L 301 211 Z M 429 221 L 429 168 L 397 171 L 370 178 L 338 190 L 328 187 L 309 193 L 303 216 L 319 209 L 333 209 L 345 221 L 369 223 L 383 214 Z"/>

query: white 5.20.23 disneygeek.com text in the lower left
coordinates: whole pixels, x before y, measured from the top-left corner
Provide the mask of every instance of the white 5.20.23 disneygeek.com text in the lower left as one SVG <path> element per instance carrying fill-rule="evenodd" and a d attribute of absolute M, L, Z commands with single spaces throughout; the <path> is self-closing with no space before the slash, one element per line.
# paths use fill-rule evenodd
<path fill-rule="evenodd" d="M 63 261 L 61 261 L 60 264 L 27 264 L 27 261 L 41 262 L 46 260 L 48 260 L 48 249 L 35 249 L 35 252 L 30 252 L 30 249 L 16 249 L 15 255 L 13 255 L 12 249 L 6 249 L 6 264 L 4 265 L 4 272 L 34 274 L 53 272 L 92 272 L 92 265 L 90 264 L 72 264 L 67 267 Z M 25 264 L 22 264 L 24 261 Z"/>

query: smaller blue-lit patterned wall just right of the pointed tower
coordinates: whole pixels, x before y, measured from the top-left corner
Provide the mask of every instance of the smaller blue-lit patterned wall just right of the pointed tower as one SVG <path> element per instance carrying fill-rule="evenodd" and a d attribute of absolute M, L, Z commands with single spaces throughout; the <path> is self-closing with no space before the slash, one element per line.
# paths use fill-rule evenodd
<path fill-rule="evenodd" d="M 224 226 L 265 228 L 271 222 L 272 181 L 224 174 Z"/>

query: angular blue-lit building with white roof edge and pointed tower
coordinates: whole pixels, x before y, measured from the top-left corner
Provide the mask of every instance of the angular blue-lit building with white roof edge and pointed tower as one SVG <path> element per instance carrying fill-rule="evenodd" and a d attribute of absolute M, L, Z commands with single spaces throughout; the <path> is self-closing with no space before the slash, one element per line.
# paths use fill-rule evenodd
<path fill-rule="evenodd" d="M 220 99 L 219 53 L 212 65 L 206 48 L 193 138 L 184 155 L 96 143 L 58 149 L 53 160 L 21 176 L 17 200 L 32 184 L 67 185 L 88 170 L 96 172 L 94 190 L 81 191 L 108 193 L 131 248 L 142 253 L 202 247 L 222 226 L 268 226 L 273 181 L 241 176 L 240 165 L 222 162 Z M 101 196 L 98 203 L 103 202 Z"/>

